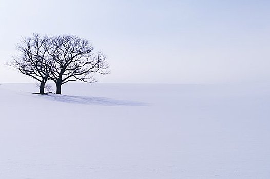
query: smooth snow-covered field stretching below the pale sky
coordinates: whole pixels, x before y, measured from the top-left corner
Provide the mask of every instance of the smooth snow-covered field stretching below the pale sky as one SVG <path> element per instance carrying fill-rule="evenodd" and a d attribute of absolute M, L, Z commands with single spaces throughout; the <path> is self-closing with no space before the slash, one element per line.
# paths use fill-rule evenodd
<path fill-rule="evenodd" d="M 270 85 L 0 85 L 0 178 L 270 178 Z"/>

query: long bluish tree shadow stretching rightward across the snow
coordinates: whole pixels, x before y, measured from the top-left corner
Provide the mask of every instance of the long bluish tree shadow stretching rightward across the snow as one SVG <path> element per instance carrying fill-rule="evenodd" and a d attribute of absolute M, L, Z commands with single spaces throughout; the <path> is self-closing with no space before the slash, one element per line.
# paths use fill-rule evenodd
<path fill-rule="evenodd" d="M 149 104 L 138 101 L 118 100 L 104 97 L 89 97 L 89 96 L 68 96 L 48 94 L 42 95 L 43 98 L 51 101 L 59 101 L 65 103 L 86 104 L 86 105 L 102 105 L 102 106 L 147 106 Z"/>

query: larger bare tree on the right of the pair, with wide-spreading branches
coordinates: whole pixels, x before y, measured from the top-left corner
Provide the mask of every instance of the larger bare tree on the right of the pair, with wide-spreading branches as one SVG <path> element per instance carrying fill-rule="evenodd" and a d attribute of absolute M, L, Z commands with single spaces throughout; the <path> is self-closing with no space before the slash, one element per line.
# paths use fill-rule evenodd
<path fill-rule="evenodd" d="M 93 73 L 107 74 L 107 57 L 93 52 L 91 43 L 78 36 L 63 35 L 50 41 L 48 54 L 52 59 L 49 79 L 56 84 L 56 93 L 69 81 L 95 82 Z"/>

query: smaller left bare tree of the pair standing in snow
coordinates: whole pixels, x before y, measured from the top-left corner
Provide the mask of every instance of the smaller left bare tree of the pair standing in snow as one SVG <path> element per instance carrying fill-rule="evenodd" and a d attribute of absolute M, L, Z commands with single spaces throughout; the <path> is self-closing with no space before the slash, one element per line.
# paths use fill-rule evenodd
<path fill-rule="evenodd" d="M 48 44 L 50 37 L 33 34 L 32 37 L 23 38 L 20 44 L 17 45 L 17 50 L 20 55 L 14 57 L 8 63 L 22 74 L 27 75 L 40 82 L 39 94 L 44 94 L 46 82 L 49 80 L 51 59 L 48 58 Z"/>

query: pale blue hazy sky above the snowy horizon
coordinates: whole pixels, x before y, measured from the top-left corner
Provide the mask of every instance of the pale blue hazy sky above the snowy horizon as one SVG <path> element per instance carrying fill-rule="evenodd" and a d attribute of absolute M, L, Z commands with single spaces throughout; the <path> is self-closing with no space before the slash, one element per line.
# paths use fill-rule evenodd
<path fill-rule="evenodd" d="M 270 81 L 270 1 L 1 0 L 0 22 L 0 82 L 32 82 L 3 63 L 33 32 L 91 40 L 100 82 Z"/>

